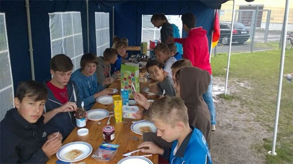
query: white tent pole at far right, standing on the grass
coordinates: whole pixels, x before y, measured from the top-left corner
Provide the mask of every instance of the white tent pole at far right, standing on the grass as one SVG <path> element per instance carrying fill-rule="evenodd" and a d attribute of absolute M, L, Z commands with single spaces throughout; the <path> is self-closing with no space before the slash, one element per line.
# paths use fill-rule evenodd
<path fill-rule="evenodd" d="M 282 92 L 282 81 L 283 81 L 283 71 L 284 71 L 285 47 L 286 47 L 285 44 L 286 44 L 286 35 L 287 35 L 287 26 L 288 26 L 288 16 L 289 16 L 289 0 L 286 0 L 277 105 L 276 105 L 275 122 L 274 122 L 274 128 L 273 128 L 272 151 L 268 152 L 271 155 L 277 155 L 277 153 L 275 152 L 275 147 L 276 147 L 279 110 L 280 110 L 280 101 L 281 101 L 281 92 Z"/>

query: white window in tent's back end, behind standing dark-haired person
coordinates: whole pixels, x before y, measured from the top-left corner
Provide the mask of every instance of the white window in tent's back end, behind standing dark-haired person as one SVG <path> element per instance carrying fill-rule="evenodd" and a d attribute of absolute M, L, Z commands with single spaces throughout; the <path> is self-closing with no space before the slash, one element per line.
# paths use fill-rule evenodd
<path fill-rule="evenodd" d="M 160 40 L 161 34 L 160 28 L 154 27 L 154 25 L 150 22 L 150 18 L 152 15 L 143 15 L 142 16 L 142 42 L 147 42 L 149 44 L 149 40 Z M 175 24 L 180 30 L 180 36 L 182 36 L 182 21 L 181 16 L 179 15 L 166 15 L 166 18 L 169 23 Z"/>

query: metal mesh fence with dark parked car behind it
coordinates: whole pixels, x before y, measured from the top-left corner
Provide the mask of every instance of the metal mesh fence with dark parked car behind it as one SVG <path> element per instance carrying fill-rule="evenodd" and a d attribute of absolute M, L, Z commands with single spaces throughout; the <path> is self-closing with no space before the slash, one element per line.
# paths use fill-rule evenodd
<path fill-rule="evenodd" d="M 212 49 L 212 55 L 227 54 L 229 51 L 230 33 L 227 34 L 227 31 L 230 30 L 229 26 L 231 26 L 232 10 L 219 10 L 218 14 L 221 36 L 217 46 Z M 289 14 L 288 20 L 288 31 L 292 32 L 293 14 Z M 283 21 L 284 10 L 272 11 L 259 9 L 258 7 L 235 10 L 231 53 L 253 52 L 280 47 Z M 226 36 L 229 37 L 228 40 Z M 225 44 L 225 41 L 228 41 L 228 44 Z"/>

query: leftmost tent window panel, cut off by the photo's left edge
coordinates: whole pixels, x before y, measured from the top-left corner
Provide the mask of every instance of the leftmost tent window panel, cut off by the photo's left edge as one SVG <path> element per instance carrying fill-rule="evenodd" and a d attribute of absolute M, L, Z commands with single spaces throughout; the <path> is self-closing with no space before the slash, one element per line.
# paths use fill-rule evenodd
<path fill-rule="evenodd" d="M 5 14 L 0 13 L 0 121 L 13 108 L 13 80 L 7 41 Z"/>

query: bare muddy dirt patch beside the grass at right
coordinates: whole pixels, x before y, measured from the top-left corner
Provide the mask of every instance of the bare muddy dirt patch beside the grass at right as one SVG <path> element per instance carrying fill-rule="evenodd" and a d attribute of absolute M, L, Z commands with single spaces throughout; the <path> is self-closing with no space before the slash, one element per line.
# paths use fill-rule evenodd
<path fill-rule="evenodd" d="M 250 90 L 248 82 L 237 83 L 229 79 L 228 93 L 241 99 L 242 90 Z M 266 128 L 254 122 L 255 114 L 239 100 L 226 100 L 218 95 L 224 93 L 225 79 L 213 77 L 213 98 L 216 108 L 216 130 L 211 135 L 213 164 L 264 164 L 265 154 L 252 146 L 272 138 Z M 265 150 L 264 150 L 265 151 Z"/>

